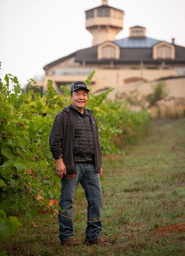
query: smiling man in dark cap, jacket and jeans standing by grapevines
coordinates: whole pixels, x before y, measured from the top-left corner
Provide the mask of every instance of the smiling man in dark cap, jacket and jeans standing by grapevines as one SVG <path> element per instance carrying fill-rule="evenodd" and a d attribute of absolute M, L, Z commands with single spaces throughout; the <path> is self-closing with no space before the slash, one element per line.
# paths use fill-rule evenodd
<path fill-rule="evenodd" d="M 85 243 L 108 245 L 99 233 L 102 211 L 101 149 L 93 111 L 85 109 L 88 87 L 79 81 L 71 86 L 71 105 L 54 119 L 49 144 L 56 159 L 56 175 L 62 179 L 61 210 L 58 214 L 61 244 L 80 245 L 73 236 L 73 199 L 79 182 L 88 201 Z M 71 219 L 70 219 L 71 218 Z M 97 221 L 98 220 L 98 221 Z"/>

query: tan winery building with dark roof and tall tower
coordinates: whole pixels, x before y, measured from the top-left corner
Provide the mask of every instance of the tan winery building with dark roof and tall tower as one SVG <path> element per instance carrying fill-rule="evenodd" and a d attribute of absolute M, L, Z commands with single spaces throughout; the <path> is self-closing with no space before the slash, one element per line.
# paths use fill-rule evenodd
<path fill-rule="evenodd" d="M 48 63 L 39 81 L 45 91 L 47 80 L 61 94 L 61 85 L 85 81 L 96 70 L 91 82 L 93 92 L 124 86 L 134 81 L 153 81 L 162 77 L 185 76 L 185 47 L 147 37 L 145 27 L 130 28 L 127 38 L 116 40 L 123 29 L 124 12 L 102 5 L 86 11 L 86 28 L 93 34 L 93 45 Z"/>

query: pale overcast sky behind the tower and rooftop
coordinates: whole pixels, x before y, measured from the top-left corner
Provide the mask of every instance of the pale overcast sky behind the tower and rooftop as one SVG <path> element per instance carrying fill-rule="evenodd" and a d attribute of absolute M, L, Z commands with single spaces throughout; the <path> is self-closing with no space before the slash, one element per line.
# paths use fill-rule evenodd
<path fill-rule="evenodd" d="M 101 0 L 0 0 L 0 77 L 27 79 L 44 75 L 43 67 L 74 51 L 90 47 L 93 36 L 85 28 L 85 10 Z M 109 0 L 124 11 L 123 30 L 116 39 L 129 36 L 129 27 L 144 26 L 146 35 L 185 46 L 185 0 Z"/>

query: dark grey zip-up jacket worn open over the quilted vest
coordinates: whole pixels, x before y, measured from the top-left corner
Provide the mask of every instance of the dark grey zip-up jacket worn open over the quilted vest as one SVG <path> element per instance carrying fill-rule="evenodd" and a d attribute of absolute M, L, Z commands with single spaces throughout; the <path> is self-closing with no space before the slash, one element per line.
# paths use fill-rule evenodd
<path fill-rule="evenodd" d="M 86 109 L 86 111 L 89 113 L 93 130 L 96 172 L 99 172 L 102 164 L 102 151 L 99 145 L 98 126 L 93 110 Z M 66 172 L 77 173 L 74 161 L 74 118 L 69 106 L 54 118 L 49 145 L 54 159 L 63 158 Z"/>

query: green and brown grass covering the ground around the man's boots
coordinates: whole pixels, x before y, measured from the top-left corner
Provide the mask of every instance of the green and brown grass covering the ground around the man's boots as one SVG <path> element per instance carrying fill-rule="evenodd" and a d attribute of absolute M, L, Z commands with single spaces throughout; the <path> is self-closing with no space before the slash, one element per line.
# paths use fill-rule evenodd
<path fill-rule="evenodd" d="M 185 234 L 158 235 L 157 227 L 185 222 L 185 119 L 154 123 L 146 138 L 103 158 L 103 231 L 110 247 L 62 247 L 57 215 L 19 216 L 22 227 L 1 243 L 8 255 L 185 255 Z M 58 185 L 60 186 L 60 185 Z M 78 187 L 74 216 L 86 219 L 85 193 Z M 35 227 L 35 226 L 36 227 Z M 86 223 L 74 222 L 83 241 Z"/>

